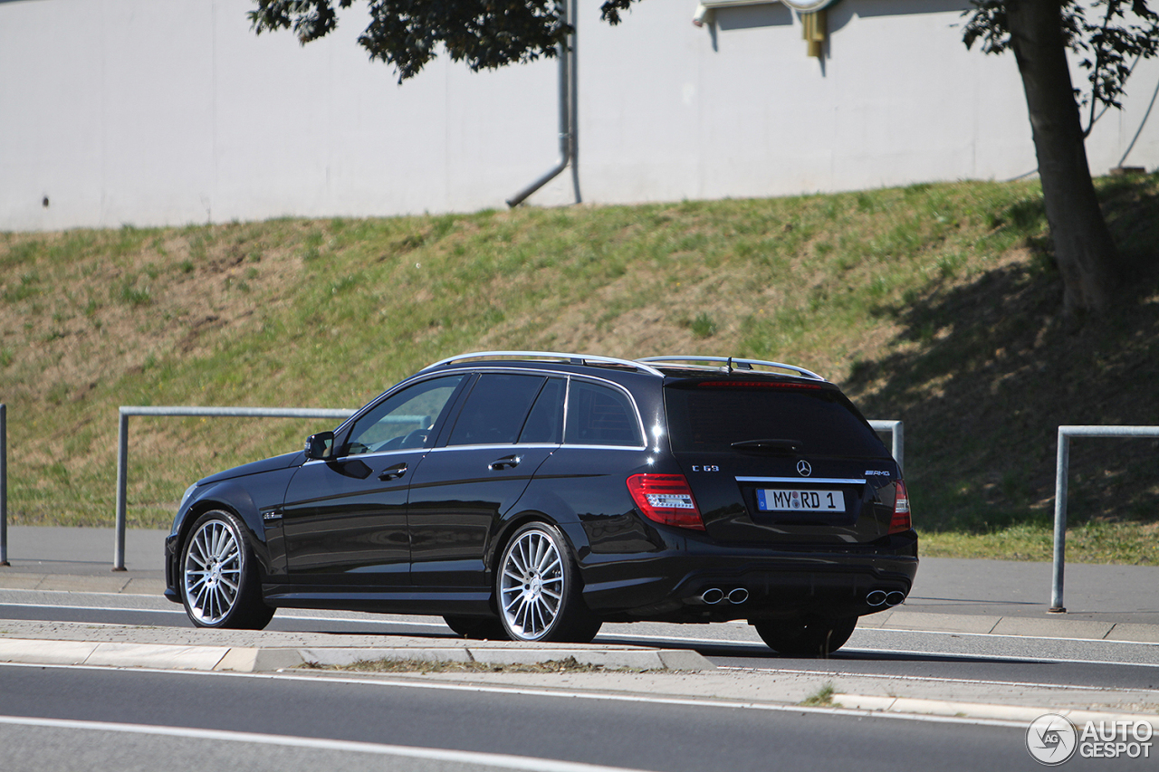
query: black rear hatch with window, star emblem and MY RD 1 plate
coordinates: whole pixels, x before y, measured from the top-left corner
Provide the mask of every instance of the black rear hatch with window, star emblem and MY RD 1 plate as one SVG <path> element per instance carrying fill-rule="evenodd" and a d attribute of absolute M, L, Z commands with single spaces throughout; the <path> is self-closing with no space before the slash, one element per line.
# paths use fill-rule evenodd
<path fill-rule="evenodd" d="M 716 541 L 854 545 L 888 534 L 898 468 L 837 386 L 670 378 L 670 443 Z"/>

